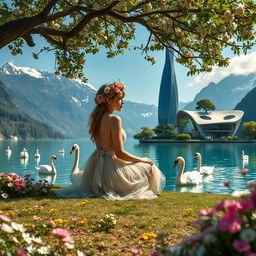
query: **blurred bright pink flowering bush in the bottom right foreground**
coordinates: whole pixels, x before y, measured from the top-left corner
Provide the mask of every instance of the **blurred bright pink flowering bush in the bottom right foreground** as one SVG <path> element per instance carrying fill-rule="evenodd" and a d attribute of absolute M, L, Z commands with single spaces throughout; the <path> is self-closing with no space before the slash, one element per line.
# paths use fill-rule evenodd
<path fill-rule="evenodd" d="M 256 183 L 248 183 L 248 189 L 250 193 L 238 200 L 223 200 L 199 211 L 194 223 L 200 231 L 175 247 L 165 243 L 166 234 L 159 234 L 152 256 L 256 256 Z"/>

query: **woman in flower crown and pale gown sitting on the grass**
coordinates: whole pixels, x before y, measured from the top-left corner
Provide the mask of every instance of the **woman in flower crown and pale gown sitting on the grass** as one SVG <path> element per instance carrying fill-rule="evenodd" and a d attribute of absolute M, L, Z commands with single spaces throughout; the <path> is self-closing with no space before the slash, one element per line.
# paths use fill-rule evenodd
<path fill-rule="evenodd" d="M 125 131 L 119 116 L 125 86 L 105 84 L 95 97 L 89 133 L 97 149 L 89 157 L 80 179 L 56 192 L 60 197 L 103 197 L 109 200 L 155 199 L 163 190 L 165 177 L 148 158 L 126 152 Z"/>

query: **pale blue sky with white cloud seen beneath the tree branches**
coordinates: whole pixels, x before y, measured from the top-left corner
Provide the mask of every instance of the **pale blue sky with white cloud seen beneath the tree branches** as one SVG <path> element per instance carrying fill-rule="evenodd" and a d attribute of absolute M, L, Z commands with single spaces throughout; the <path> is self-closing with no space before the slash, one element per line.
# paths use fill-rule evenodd
<path fill-rule="evenodd" d="M 145 43 L 147 38 L 148 32 L 146 29 L 138 27 L 137 39 L 131 42 L 131 46 Z M 44 41 L 39 37 L 34 37 L 34 41 L 36 43 L 35 47 L 25 46 L 23 54 L 18 56 L 11 55 L 7 46 L 0 49 L 0 67 L 7 62 L 12 62 L 16 66 L 54 72 L 55 58 L 52 53 L 43 53 L 38 60 L 32 57 L 32 52 L 38 53 L 40 46 L 45 46 Z M 217 83 L 230 74 L 256 72 L 256 52 L 254 51 L 256 51 L 256 47 L 246 56 L 235 57 L 230 51 L 226 50 L 224 56 L 231 57 L 229 67 L 214 67 L 211 73 L 202 73 L 196 76 L 187 76 L 188 69 L 175 62 L 179 102 L 192 101 L 195 95 L 210 82 Z M 126 100 L 157 106 L 165 52 L 153 52 L 151 56 L 156 59 L 154 65 L 147 62 L 139 50 L 126 51 L 124 55 L 108 59 L 105 50 L 102 49 L 96 55 L 88 54 L 86 56 L 84 73 L 88 82 L 95 88 L 99 88 L 104 83 L 121 81 L 126 85 Z"/>

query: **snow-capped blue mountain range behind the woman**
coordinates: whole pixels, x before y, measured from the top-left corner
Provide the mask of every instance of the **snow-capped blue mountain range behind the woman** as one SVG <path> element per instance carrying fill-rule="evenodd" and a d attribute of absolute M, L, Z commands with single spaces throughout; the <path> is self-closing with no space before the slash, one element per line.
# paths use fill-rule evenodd
<path fill-rule="evenodd" d="M 88 118 L 95 106 L 96 88 L 92 85 L 12 63 L 0 68 L 0 80 L 21 112 L 66 137 L 88 136 Z M 118 114 L 128 134 L 157 125 L 157 107 L 153 105 L 126 101 Z"/>

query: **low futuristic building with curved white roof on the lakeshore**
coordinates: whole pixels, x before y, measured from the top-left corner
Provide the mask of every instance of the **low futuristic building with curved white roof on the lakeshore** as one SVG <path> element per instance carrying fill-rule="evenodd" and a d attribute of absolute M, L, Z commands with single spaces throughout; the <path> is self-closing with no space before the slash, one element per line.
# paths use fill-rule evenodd
<path fill-rule="evenodd" d="M 177 124 L 182 125 L 178 127 L 178 130 L 202 139 L 234 136 L 239 129 L 243 115 L 242 110 L 211 112 L 179 110 Z"/>

